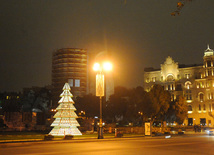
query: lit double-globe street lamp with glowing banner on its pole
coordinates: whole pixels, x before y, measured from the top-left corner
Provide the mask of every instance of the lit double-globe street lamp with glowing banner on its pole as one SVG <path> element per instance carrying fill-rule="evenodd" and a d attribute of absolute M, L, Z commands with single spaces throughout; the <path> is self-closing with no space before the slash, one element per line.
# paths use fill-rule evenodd
<path fill-rule="evenodd" d="M 96 96 L 100 97 L 100 122 L 98 139 L 103 139 L 103 121 L 102 121 L 102 97 L 104 96 L 104 74 L 103 71 L 111 71 L 112 64 L 110 62 L 105 62 L 102 65 L 95 63 L 93 70 L 97 72 L 96 74 Z"/>

